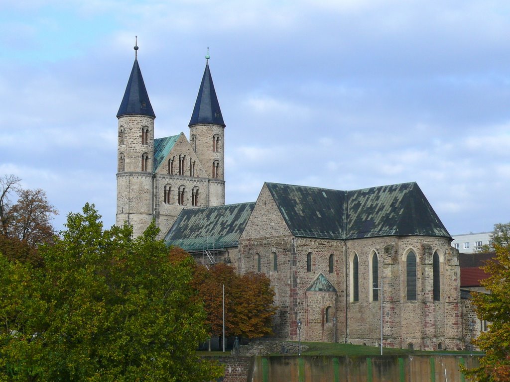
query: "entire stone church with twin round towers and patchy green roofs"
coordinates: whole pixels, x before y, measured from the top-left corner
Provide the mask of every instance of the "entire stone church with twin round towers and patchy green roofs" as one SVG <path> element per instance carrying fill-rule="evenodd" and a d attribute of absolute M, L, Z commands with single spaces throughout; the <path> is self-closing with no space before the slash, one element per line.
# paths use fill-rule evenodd
<path fill-rule="evenodd" d="M 465 348 L 458 252 L 415 182 L 264 183 L 257 201 L 225 205 L 225 124 L 206 59 L 188 140 L 155 138 L 135 56 L 117 113 L 116 224 L 140 235 L 154 220 L 209 267 L 266 274 L 277 338 L 297 340 L 300 322 L 304 341 L 378 345 L 382 328 L 384 346 Z"/>

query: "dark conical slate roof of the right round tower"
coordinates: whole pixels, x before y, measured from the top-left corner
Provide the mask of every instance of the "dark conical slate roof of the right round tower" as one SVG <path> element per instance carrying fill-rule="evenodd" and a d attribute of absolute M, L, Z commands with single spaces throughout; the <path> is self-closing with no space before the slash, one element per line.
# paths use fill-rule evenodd
<path fill-rule="evenodd" d="M 206 70 L 203 72 L 202 83 L 196 97 L 195 108 L 191 115 L 188 126 L 199 123 L 210 123 L 225 127 L 223 117 L 221 116 L 220 104 L 214 91 L 213 78 L 209 71 L 209 60 L 206 64 Z"/>

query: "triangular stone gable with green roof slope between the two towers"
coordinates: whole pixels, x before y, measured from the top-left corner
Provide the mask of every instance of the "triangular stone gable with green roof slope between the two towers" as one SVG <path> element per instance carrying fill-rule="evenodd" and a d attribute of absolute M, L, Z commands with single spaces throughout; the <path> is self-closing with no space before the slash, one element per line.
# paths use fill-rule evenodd
<path fill-rule="evenodd" d="M 154 140 L 154 158 L 158 174 L 208 177 L 183 132 Z"/>

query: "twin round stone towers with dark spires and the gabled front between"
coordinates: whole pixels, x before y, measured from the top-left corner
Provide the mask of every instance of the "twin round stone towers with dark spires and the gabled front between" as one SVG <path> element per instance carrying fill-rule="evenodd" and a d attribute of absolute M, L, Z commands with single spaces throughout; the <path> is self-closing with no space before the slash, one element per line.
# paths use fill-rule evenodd
<path fill-rule="evenodd" d="M 117 113 L 116 225 L 142 234 L 152 220 L 163 237 L 184 208 L 225 204 L 224 128 L 218 98 L 206 69 L 183 132 L 154 138 L 154 120 L 135 46 L 135 62 Z"/>

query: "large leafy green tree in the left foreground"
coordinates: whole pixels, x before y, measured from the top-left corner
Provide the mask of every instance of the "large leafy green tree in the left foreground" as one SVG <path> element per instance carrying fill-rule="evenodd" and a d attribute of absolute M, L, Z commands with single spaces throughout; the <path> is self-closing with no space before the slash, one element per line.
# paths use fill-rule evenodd
<path fill-rule="evenodd" d="M 87 204 L 83 214 L 68 215 L 54 245 L 40 248 L 44 267 L 11 263 L 0 269 L 2 290 L 8 286 L 10 296 L 24 291 L 0 306 L 6 317 L 0 380 L 192 382 L 220 376 L 220 366 L 194 355 L 207 332 L 190 286 L 192 259 L 172 262 L 157 234 L 154 224 L 136 239 L 127 226 L 103 230 Z"/>

